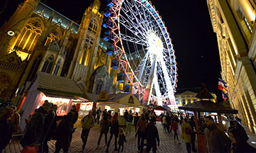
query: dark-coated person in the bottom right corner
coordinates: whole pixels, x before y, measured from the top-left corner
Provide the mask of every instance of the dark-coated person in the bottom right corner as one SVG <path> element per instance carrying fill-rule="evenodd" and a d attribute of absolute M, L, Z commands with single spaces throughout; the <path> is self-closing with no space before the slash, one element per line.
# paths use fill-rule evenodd
<path fill-rule="evenodd" d="M 230 147 L 230 152 L 233 153 L 240 153 L 240 152 L 256 152 L 256 149 L 252 146 L 250 146 L 247 143 L 247 139 L 243 135 L 242 131 L 238 127 L 230 127 L 228 129 L 228 135 L 230 137 L 230 140 L 232 142 L 232 145 Z"/>

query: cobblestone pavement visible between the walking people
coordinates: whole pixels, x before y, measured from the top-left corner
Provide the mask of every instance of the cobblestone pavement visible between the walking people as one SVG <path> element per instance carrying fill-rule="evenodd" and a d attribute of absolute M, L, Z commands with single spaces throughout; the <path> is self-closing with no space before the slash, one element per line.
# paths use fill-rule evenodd
<path fill-rule="evenodd" d="M 160 122 L 156 122 L 156 127 L 159 131 L 159 138 L 160 138 L 160 146 L 157 147 L 156 152 L 186 152 L 186 145 L 183 140 L 181 140 L 181 127 L 178 128 L 178 136 L 181 140 L 181 144 L 178 142 L 174 142 L 174 132 L 168 133 L 164 132 L 163 127 L 161 126 Z M 105 139 L 104 135 L 102 136 L 102 140 L 100 142 L 100 148 L 97 149 L 97 140 L 100 137 L 100 130 L 99 125 L 95 125 L 94 128 L 90 130 L 90 134 L 87 140 L 87 144 L 85 146 L 85 150 L 82 151 L 82 140 L 80 138 L 81 135 L 81 128 L 78 128 L 73 133 L 73 140 L 70 144 L 69 152 L 105 152 Z M 137 152 L 137 138 L 134 137 L 134 126 L 132 126 L 132 132 L 126 136 L 127 142 L 124 143 L 124 152 Z M 107 140 L 110 137 L 110 133 L 107 135 Z M 55 140 L 51 140 L 48 142 L 49 145 L 49 152 L 55 151 Z M 118 145 L 118 143 L 117 143 Z M 117 146 L 118 147 L 118 146 Z M 146 148 L 146 147 L 144 147 Z M 3 152 L 21 152 L 22 147 L 19 144 L 18 140 L 13 140 L 11 144 L 9 144 Z M 114 137 L 112 138 L 112 142 L 110 143 L 110 152 L 114 152 Z"/>

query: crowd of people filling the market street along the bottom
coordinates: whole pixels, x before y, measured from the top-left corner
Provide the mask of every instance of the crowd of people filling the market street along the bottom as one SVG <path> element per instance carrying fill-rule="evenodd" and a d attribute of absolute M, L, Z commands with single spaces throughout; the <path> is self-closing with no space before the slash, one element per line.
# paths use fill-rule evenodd
<path fill-rule="evenodd" d="M 33 146 L 37 152 L 48 152 L 48 141 L 56 140 L 55 152 L 68 152 L 70 142 L 72 141 L 74 124 L 78 120 L 78 111 L 76 106 L 72 106 L 71 111 L 63 118 L 57 120 L 57 106 L 45 101 L 43 106 L 36 109 L 33 115 L 26 121 L 24 135 L 20 141 L 23 149 Z M 21 120 L 21 111 L 17 111 L 15 106 L 6 106 L 0 108 L 0 152 L 8 145 L 11 135 L 18 132 Z M 132 113 L 126 110 L 124 112 L 125 125 L 119 125 L 119 114 L 105 109 L 93 108 L 81 120 L 82 125 L 82 150 L 85 149 L 90 129 L 95 124 L 100 124 L 100 133 L 97 140 L 97 148 L 100 147 L 102 136 L 105 137 L 106 152 L 109 152 L 110 143 L 114 137 L 114 151 L 123 152 L 127 142 L 126 136 L 131 134 L 133 123 L 135 137 L 137 137 L 137 152 L 156 152 L 157 146 L 160 145 L 159 132 L 156 128 L 156 113 L 144 111 Z M 160 115 L 163 130 L 174 135 L 174 143 L 181 144 L 179 138 L 186 143 L 188 153 L 197 152 L 196 140 L 196 123 L 193 116 L 173 113 L 162 113 Z M 213 118 L 206 116 L 203 118 L 203 132 L 206 140 L 206 152 L 256 152 L 256 149 L 247 143 L 249 137 L 240 122 L 230 121 L 228 135 L 220 130 Z M 180 129 L 180 130 L 178 130 Z M 181 133 L 178 133 L 181 131 Z M 110 138 L 107 140 L 108 132 Z"/>

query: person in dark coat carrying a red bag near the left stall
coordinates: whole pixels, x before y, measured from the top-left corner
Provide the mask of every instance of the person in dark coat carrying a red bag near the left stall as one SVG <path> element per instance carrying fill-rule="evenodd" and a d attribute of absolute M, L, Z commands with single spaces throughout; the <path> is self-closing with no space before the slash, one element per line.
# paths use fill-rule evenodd
<path fill-rule="evenodd" d="M 45 102 L 43 106 L 35 110 L 31 117 L 30 123 L 28 123 L 28 128 L 26 129 L 25 135 L 21 140 L 21 146 L 25 147 L 26 145 L 31 145 L 33 143 L 37 145 L 41 145 L 41 135 L 43 133 L 43 125 L 44 125 L 44 115 L 48 113 L 51 109 L 52 104 Z M 41 148 L 41 147 L 40 147 Z"/>

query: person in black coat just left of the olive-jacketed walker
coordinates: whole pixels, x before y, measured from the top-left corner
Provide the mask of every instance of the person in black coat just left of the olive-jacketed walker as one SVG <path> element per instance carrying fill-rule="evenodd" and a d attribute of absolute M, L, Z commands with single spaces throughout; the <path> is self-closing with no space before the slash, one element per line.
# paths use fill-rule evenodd
<path fill-rule="evenodd" d="M 68 115 L 60 122 L 58 125 L 57 132 L 57 141 L 55 143 L 55 153 L 60 152 L 60 149 L 63 149 L 63 152 L 68 152 L 69 137 L 72 131 L 72 120 L 73 112 L 69 112 Z"/>

